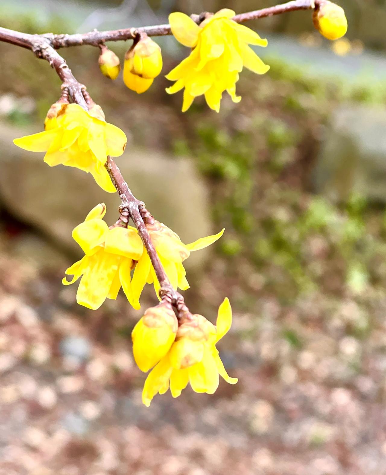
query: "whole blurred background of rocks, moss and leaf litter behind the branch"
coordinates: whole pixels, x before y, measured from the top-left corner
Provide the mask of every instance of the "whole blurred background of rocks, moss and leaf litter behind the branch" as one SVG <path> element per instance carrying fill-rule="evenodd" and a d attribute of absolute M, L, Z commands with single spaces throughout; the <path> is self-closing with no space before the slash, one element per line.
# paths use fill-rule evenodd
<path fill-rule="evenodd" d="M 85 32 L 167 22 L 272 0 L 2 0 L 1 25 Z M 248 24 L 271 70 L 243 72 L 220 114 L 158 77 L 136 95 L 99 72 L 98 49 L 61 50 L 108 122 L 129 137 L 117 159 L 137 198 L 184 242 L 226 228 L 187 261 L 186 300 L 212 322 L 235 386 L 141 404 L 145 379 L 124 295 L 97 311 L 64 287 L 80 257 L 71 231 L 117 196 L 12 139 L 42 129 L 60 82 L 0 44 L 0 474 L 384 475 L 386 473 L 386 1 L 341 0 L 349 30 L 330 43 L 311 12 Z M 187 54 L 156 39 L 166 74 Z M 109 44 L 123 61 L 129 43 Z M 155 303 L 152 288 L 142 299 Z"/>

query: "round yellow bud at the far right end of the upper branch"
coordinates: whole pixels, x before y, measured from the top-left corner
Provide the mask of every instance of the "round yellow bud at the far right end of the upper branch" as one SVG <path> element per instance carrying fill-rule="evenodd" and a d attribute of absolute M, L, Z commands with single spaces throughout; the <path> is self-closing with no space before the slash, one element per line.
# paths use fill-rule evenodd
<path fill-rule="evenodd" d="M 315 8 L 312 20 L 314 27 L 327 39 L 342 38 L 347 32 L 347 19 L 344 10 L 328 0 Z"/>

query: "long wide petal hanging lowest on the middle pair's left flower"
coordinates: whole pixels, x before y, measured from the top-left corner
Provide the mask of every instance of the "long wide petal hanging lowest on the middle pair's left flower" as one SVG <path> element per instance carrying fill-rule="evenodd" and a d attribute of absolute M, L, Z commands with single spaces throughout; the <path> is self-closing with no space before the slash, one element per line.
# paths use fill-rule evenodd
<path fill-rule="evenodd" d="M 88 266 L 81 278 L 76 302 L 96 310 L 109 294 L 121 257 L 107 254 L 103 249 L 89 257 Z"/>

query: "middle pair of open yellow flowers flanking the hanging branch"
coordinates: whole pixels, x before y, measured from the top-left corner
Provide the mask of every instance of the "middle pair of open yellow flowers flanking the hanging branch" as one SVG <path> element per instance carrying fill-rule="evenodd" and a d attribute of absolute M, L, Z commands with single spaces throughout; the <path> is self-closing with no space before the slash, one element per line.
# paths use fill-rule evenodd
<path fill-rule="evenodd" d="M 76 301 L 93 310 L 99 308 L 106 298 L 116 299 L 122 285 L 132 307 L 139 310 L 145 284 L 153 284 L 158 297 L 160 284 L 138 231 L 131 226 L 109 228 L 103 220 L 105 213 L 104 203 L 97 205 L 85 221 L 73 230 L 72 236 L 85 256 L 66 270 L 66 275 L 74 277 L 69 282 L 63 279 L 63 284 L 73 284 L 82 276 Z M 184 244 L 176 233 L 155 219 L 146 227 L 175 290 L 189 288 L 182 262 L 189 257 L 190 252 L 210 246 L 224 232 L 223 229 L 214 236 L 201 237 L 191 244 Z"/>

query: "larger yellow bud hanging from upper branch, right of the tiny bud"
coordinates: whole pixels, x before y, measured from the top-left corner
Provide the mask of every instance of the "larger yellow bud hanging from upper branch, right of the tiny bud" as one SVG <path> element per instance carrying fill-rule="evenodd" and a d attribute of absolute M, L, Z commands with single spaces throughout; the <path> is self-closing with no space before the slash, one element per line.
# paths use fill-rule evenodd
<path fill-rule="evenodd" d="M 162 69 L 161 48 L 145 36 L 127 51 L 123 64 L 123 82 L 138 94 L 145 92 Z"/>

